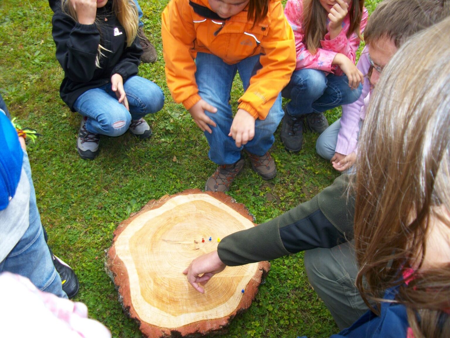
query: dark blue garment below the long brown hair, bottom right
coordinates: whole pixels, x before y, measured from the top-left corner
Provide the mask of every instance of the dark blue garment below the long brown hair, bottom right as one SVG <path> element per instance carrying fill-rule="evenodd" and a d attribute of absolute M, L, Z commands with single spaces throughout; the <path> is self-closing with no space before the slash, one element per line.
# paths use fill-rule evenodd
<path fill-rule="evenodd" d="M 384 299 L 395 299 L 397 292 L 398 287 L 388 290 Z M 330 338 L 406 338 L 409 326 L 404 305 L 383 302 L 379 316 L 367 311 L 351 327 Z"/>

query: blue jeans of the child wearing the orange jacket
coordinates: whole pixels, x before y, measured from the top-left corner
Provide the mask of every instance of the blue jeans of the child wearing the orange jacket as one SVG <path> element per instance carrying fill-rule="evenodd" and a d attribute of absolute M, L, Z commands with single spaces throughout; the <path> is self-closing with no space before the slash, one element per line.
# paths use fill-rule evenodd
<path fill-rule="evenodd" d="M 264 155 L 274 143 L 274 132 L 284 116 L 281 95 L 275 100 L 266 119 L 255 121 L 255 137 L 246 145 L 237 147 L 233 138 L 228 136 L 233 122 L 230 91 L 234 77 L 236 72 L 239 72 L 244 91 L 247 90 L 250 78 L 261 68 L 259 55 L 243 59 L 237 64 L 226 64 L 215 55 L 198 53 L 195 62 L 198 94 L 207 103 L 217 108 L 214 114 L 205 111 L 217 124 L 217 127 L 210 126 L 211 134 L 205 132 L 210 146 L 208 156 L 211 161 L 219 165 L 233 164 L 240 159 L 243 149 L 258 156 Z"/>

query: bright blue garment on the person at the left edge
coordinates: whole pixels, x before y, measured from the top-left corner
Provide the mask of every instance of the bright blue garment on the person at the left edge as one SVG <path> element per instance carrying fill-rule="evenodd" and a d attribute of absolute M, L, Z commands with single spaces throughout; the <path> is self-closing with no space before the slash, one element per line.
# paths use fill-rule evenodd
<path fill-rule="evenodd" d="M 0 110 L 0 210 L 14 197 L 22 172 L 23 151 L 16 129 Z"/>

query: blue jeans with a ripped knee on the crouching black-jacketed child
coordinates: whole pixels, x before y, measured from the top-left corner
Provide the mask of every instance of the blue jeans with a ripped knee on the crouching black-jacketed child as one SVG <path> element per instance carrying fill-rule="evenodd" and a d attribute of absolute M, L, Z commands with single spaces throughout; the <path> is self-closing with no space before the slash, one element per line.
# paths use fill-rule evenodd
<path fill-rule="evenodd" d="M 86 129 L 93 134 L 120 136 L 128 130 L 131 120 L 162 109 L 164 94 L 155 83 L 132 76 L 123 85 L 130 111 L 119 103 L 111 83 L 85 91 L 76 99 L 73 108 L 87 117 Z"/>

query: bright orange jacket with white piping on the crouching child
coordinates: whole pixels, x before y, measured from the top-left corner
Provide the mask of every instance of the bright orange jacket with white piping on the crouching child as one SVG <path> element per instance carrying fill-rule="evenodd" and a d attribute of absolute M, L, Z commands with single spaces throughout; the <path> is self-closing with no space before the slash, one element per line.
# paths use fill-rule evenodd
<path fill-rule="evenodd" d="M 208 0 L 192 1 L 211 9 Z M 189 110 L 201 99 L 195 82 L 197 52 L 228 64 L 261 54 L 262 68 L 250 79 L 238 107 L 265 119 L 295 69 L 295 39 L 280 0 L 270 0 L 266 18 L 252 25 L 246 9 L 218 21 L 195 13 L 189 0 L 171 0 L 162 12 L 162 45 L 167 86 L 175 102 Z"/>

